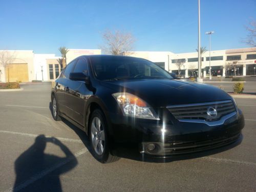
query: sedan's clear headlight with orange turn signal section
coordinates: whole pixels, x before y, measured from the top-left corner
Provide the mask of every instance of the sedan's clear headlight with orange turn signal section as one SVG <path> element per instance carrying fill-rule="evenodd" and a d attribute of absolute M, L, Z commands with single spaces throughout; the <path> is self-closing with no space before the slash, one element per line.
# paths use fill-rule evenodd
<path fill-rule="evenodd" d="M 154 110 L 136 95 L 130 93 L 114 93 L 112 95 L 118 102 L 124 115 L 159 120 Z"/>

